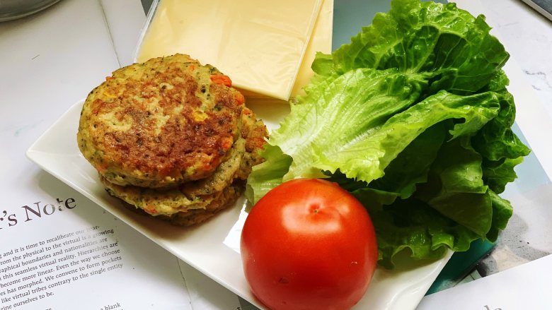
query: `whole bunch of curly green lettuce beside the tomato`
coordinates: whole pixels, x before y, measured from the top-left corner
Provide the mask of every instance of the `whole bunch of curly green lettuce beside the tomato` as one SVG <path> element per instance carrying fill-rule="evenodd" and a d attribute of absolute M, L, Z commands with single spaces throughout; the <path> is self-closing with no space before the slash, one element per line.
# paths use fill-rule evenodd
<path fill-rule="evenodd" d="M 317 54 L 305 95 L 253 167 L 253 203 L 283 181 L 325 177 L 367 208 L 379 263 L 494 241 L 512 206 L 498 196 L 529 154 L 512 131 L 509 54 L 483 16 L 392 0 L 350 44 Z"/>

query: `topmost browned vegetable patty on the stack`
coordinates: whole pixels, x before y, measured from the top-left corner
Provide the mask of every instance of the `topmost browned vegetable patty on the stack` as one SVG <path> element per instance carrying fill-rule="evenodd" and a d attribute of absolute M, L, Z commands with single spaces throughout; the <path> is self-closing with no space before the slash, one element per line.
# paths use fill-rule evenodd
<path fill-rule="evenodd" d="M 77 140 L 110 183 L 161 188 L 228 159 L 243 96 L 212 66 L 176 54 L 113 72 L 86 98 Z"/>

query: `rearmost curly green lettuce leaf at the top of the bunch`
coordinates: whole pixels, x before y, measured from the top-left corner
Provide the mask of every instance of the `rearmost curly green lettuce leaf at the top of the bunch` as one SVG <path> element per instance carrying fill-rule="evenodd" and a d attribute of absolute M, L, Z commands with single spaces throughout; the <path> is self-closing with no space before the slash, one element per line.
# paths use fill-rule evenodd
<path fill-rule="evenodd" d="M 372 25 L 333 53 L 335 71 L 434 72 L 432 93 L 474 93 L 510 57 L 489 30 L 483 16 L 474 18 L 454 3 L 393 0 L 389 13 L 376 14 Z"/>

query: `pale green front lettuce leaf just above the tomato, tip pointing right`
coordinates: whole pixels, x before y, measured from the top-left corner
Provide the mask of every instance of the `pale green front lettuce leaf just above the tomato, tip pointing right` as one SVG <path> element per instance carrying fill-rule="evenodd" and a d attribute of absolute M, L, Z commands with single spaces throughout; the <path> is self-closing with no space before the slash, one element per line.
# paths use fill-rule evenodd
<path fill-rule="evenodd" d="M 366 71 L 350 72 L 364 74 Z M 400 112 L 399 108 L 408 107 L 412 99 L 403 99 L 403 93 L 391 93 L 395 87 L 382 88 L 381 84 L 408 81 L 403 79 L 405 77 L 401 73 L 391 73 L 378 77 L 375 83 L 370 79 L 349 79 L 339 83 L 339 88 L 326 88 L 321 100 L 314 104 L 307 105 L 299 100 L 292 105 L 291 114 L 268 141 L 293 158 L 284 181 L 320 177 L 321 171 L 335 172 L 338 168 L 353 179 L 368 182 L 379 179 L 399 153 L 440 121 L 463 120 L 451 130 L 455 137 L 481 129 L 498 114 L 500 105 L 495 93 L 459 96 L 445 91 Z M 366 88 L 367 81 L 372 88 Z M 406 88 L 401 87 L 401 90 Z M 352 104 L 354 109 L 340 109 Z M 317 115 L 325 117 L 316 118 Z"/>

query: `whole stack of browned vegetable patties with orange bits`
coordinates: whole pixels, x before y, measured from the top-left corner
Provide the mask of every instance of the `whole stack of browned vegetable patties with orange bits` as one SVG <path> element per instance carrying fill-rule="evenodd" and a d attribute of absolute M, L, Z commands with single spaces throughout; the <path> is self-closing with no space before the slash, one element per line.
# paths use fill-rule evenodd
<path fill-rule="evenodd" d="M 105 189 L 178 225 L 233 205 L 268 135 L 231 80 L 189 56 L 150 59 L 92 90 L 77 141 Z"/>

